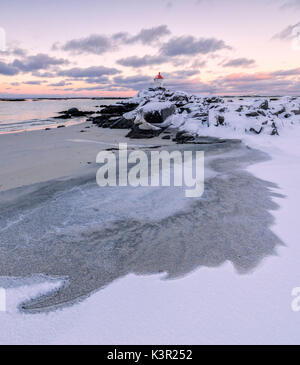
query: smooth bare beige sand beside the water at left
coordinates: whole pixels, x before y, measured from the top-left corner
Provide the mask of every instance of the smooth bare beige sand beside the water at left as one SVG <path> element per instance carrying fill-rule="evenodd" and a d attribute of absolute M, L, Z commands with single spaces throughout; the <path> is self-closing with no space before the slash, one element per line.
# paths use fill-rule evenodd
<path fill-rule="evenodd" d="M 162 143 L 161 138 L 132 141 L 125 138 L 127 133 L 85 122 L 49 131 L 0 134 L 0 191 L 81 173 L 88 163 L 95 163 L 99 151 L 121 142 L 129 146 L 172 144 Z"/>

